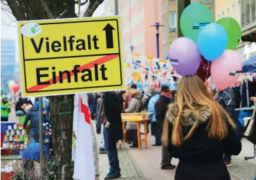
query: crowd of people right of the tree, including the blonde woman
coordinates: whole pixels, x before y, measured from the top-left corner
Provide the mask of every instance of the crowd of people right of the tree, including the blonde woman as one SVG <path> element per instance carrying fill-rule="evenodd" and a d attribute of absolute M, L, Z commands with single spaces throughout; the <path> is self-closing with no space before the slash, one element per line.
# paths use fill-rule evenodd
<path fill-rule="evenodd" d="M 98 97 L 93 100 L 96 128 L 100 133 L 103 127 L 102 143 L 110 164 L 105 179 L 121 176 L 116 148 L 116 141 L 123 139 L 120 114 L 143 110 L 152 112 L 152 146 L 162 146 L 161 169 L 176 168 L 171 163 L 175 157 L 179 158 L 177 180 L 230 179 L 226 167 L 232 166 L 231 156 L 241 151 L 241 137 L 235 128 L 239 99 L 232 88 L 217 92 L 205 86 L 199 77 L 189 75 L 179 81 L 177 92 L 162 86 L 144 94 L 133 84 L 127 90 L 94 97 Z M 127 122 L 125 131 L 130 147 L 138 148 L 136 123 Z"/>

